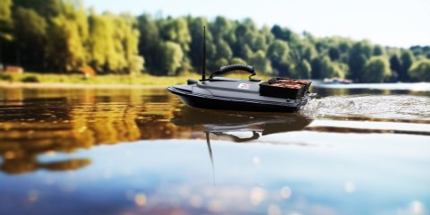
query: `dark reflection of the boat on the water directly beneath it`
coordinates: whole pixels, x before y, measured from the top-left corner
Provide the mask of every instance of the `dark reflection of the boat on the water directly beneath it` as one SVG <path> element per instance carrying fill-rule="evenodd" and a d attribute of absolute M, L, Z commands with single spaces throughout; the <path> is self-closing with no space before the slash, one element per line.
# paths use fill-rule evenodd
<path fill-rule="evenodd" d="M 200 127 L 204 133 L 230 137 L 233 142 L 249 142 L 260 135 L 301 131 L 312 119 L 297 113 L 215 111 L 185 106 L 170 121 L 176 126 Z M 239 137 L 234 132 L 251 132 L 252 136 Z"/>

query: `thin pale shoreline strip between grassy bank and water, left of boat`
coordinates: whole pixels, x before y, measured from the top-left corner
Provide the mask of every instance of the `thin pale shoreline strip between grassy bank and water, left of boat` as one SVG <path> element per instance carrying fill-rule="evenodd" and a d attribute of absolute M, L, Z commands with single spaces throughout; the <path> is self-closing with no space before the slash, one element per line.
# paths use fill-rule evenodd
<path fill-rule="evenodd" d="M 144 85 L 144 84 L 123 84 L 123 83 L 26 83 L 26 82 L 0 82 L 0 89 L 150 89 L 166 88 L 168 85 Z"/>

